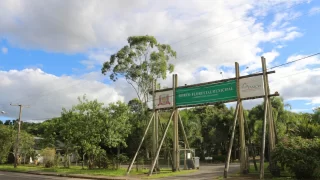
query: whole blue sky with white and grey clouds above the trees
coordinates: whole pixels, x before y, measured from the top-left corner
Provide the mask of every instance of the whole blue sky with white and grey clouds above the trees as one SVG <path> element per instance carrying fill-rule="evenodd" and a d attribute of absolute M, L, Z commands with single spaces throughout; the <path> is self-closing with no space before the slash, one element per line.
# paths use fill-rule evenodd
<path fill-rule="evenodd" d="M 171 45 L 179 85 L 234 77 L 235 62 L 247 75 L 261 71 L 261 56 L 272 68 L 320 52 L 318 0 L 1 0 L 0 9 L 0 120 L 18 117 L 10 103 L 30 106 L 23 121 L 41 122 L 84 94 L 105 104 L 135 98 L 125 79 L 101 74 L 129 36 Z M 319 65 L 317 55 L 272 69 L 271 92 L 291 111 L 312 112 Z M 158 82 L 171 87 L 171 76 Z"/>

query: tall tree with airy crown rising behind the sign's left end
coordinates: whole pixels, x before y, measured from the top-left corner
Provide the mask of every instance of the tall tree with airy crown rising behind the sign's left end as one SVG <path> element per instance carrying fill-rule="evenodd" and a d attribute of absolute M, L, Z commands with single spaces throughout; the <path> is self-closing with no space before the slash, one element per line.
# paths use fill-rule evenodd
<path fill-rule="evenodd" d="M 173 72 L 174 66 L 169 60 L 175 57 L 176 52 L 170 45 L 158 43 L 153 36 L 131 36 L 128 45 L 111 55 L 101 71 L 104 75 L 110 73 L 113 81 L 124 77 L 139 100 L 146 103 L 152 81 L 166 79 L 167 73 Z"/>

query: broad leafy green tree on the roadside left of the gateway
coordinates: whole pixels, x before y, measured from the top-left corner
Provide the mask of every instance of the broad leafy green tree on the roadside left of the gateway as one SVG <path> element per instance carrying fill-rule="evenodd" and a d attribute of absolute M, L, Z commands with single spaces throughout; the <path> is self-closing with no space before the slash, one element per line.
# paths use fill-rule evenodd
<path fill-rule="evenodd" d="M 97 100 L 89 101 L 86 96 L 78 98 L 79 104 L 70 110 L 63 109 L 61 118 L 43 124 L 45 144 L 64 149 L 65 156 L 81 151 L 88 156 L 90 167 L 97 165 L 96 157 L 106 153 L 106 148 L 126 146 L 131 132 L 128 123 L 129 107 L 122 103 L 110 103 L 107 107 Z M 69 161 L 65 158 L 65 162 Z M 65 164 L 69 167 L 69 164 Z"/>

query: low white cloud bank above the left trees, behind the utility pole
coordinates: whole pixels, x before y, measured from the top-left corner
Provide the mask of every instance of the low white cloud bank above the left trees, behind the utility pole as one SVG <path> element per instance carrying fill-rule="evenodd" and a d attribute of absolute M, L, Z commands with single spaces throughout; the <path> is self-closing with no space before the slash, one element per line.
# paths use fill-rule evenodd
<path fill-rule="evenodd" d="M 77 97 L 87 95 L 108 104 L 124 100 L 111 85 L 70 76 L 55 76 L 40 69 L 0 71 L 0 108 L 16 118 L 18 108 L 10 103 L 30 105 L 23 110 L 23 120 L 44 120 L 60 115 L 62 107 L 77 104 Z"/>

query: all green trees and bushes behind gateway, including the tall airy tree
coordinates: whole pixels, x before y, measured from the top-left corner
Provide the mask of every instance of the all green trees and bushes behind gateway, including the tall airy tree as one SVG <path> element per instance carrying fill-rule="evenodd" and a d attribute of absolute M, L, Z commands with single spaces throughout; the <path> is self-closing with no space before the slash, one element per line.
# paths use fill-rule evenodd
<path fill-rule="evenodd" d="M 64 169 L 71 168 L 71 163 L 81 163 L 82 169 L 87 166 L 90 170 L 121 169 L 121 164 L 132 159 L 151 117 L 147 110 L 151 84 L 157 78 L 165 79 L 167 73 L 173 71 L 169 61 L 175 57 L 176 52 L 169 45 L 158 43 L 152 36 L 129 37 L 128 45 L 103 64 L 102 73 L 109 75 L 113 81 L 126 79 L 138 98 L 128 104 L 118 101 L 105 105 L 97 99 L 88 100 L 83 96 L 71 109 L 63 108 L 58 118 L 43 123 L 22 123 L 19 163 L 28 163 L 30 157 L 40 162 L 38 158 L 41 154 L 44 157 L 41 163 L 47 169 L 59 169 L 61 164 Z M 319 176 L 320 141 L 317 137 L 320 136 L 320 109 L 315 109 L 313 113 L 295 113 L 290 111 L 289 104 L 284 104 L 283 99 L 278 97 L 271 98 L 271 105 L 277 146 L 273 152 L 266 147 L 266 160 L 273 157 L 282 170 L 292 172 L 297 178 Z M 259 104 L 245 110 L 246 143 L 253 159 L 260 155 L 263 106 Z M 234 108 L 221 103 L 180 111 L 189 144 L 195 148 L 200 160 L 205 160 L 205 157 L 212 157 L 212 162 L 225 160 L 234 111 Z M 163 135 L 170 113 L 160 113 L 159 137 Z M 0 124 L 0 164 L 13 162 L 16 129 L 15 120 Z M 232 160 L 239 159 L 238 129 Z M 179 136 L 182 140 L 182 134 Z M 150 162 L 150 137 L 149 132 L 138 155 L 141 164 Z M 172 131 L 168 132 L 167 137 L 160 157 L 170 162 Z"/>

